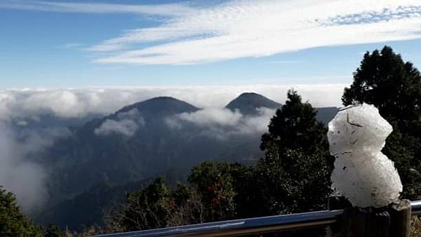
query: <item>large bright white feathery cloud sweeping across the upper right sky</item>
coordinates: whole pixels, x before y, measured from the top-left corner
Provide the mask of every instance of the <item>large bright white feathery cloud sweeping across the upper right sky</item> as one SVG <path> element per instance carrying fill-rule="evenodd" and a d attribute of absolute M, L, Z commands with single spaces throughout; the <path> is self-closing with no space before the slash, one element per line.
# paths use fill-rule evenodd
<path fill-rule="evenodd" d="M 420 30 L 420 1 L 228 1 L 196 6 L 158 27 L 133 29 L 90 49 L 111 53 L 94 62 L 182 65 L 420 39 Z"/>

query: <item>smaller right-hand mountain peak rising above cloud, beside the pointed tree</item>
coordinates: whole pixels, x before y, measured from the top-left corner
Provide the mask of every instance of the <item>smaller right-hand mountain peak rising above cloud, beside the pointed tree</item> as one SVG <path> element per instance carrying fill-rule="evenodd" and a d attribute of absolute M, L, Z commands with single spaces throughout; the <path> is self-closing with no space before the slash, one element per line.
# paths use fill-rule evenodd
<path fill-rule="evenodd" d="M 258 111 L 256 109 L 259 107 L 278 109 L 281 107 L 281 104 L 258 93 L 247 92 L 242 93 L 239 97 L 229 102 L 225 108 L 232 111 L 239 109 L 242 114 L 257 114 Z"/>

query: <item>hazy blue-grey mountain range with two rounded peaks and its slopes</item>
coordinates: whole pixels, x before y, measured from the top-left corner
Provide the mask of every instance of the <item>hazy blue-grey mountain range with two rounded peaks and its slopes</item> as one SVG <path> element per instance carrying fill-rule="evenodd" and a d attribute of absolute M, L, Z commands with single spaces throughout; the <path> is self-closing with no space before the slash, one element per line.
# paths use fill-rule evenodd
<path fill-rule="evenodd" d="M 261 107 L 279 109 L 281 104 L 256 93 L 243 93 L 225 108 L 253 117 L 258 115 L 257 109 Z M 334 107 L 316 109 L 319 111 L 318 118 L 325 124 L 338 111 Z M 250 163 L 262 156 L 260 133 L 239 134 L 234 139 L 219 140 L 205 135 L 203 128 L 192 123 L 175 129 L 166 123 L 168 118 L 178 114 L 200 110 L 173 97 L 155 97 L 72 128 L 72 135 L 56 141 L 42 156 L 51 170 L 51 205 L 74 202 L 74 210 L 80 212 L 83 208 L 79 205 L 83 204 L 76 203 L 83 203 L 81 200 L 88 198 L 90 192 L 96 190 L 92 187 L 98 184 L 121 187 L 128 182 L 149 180 L 160 175 L 175 183 L 185 179 L 189 169 L 203 161 Z M 116 133 L 117 130 L 97 133 L 104 124 L 121 128 L 119 126 L 130 121 L 137 125 L 130 127 L 136 128 L 133 134 Z M 122 189 L 129 191 L 128 188 Z M 49 213 L 43 222 L 50 221 L 48 217 L 53 221 L 53 217 L 58 216 L 69 219 L 60 213 Z M 68 224 L 77 228 L 78 223 Z"/>

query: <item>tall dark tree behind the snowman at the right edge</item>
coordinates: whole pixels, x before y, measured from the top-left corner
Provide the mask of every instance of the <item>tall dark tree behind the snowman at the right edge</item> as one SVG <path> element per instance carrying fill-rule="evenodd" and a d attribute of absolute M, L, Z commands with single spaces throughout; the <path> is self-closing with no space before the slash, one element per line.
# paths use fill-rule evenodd
<path fill-rule="evenodd" d="M 374 104 L 394 131 L 384 153 L 401 176 L 403 198 L 421 198 L 421 75 L 410 62 L 385 46 L 367 52 L 354 72 L 354 82 L 345 88 L 344 105 Z"/>

